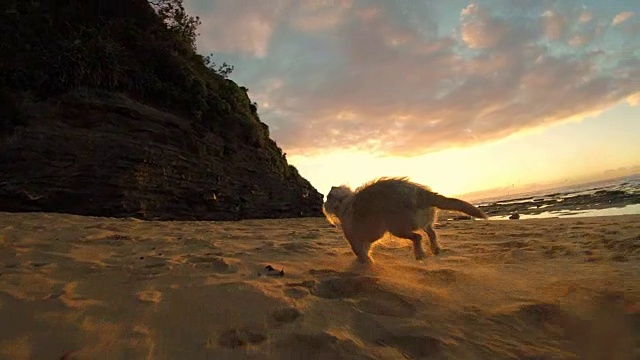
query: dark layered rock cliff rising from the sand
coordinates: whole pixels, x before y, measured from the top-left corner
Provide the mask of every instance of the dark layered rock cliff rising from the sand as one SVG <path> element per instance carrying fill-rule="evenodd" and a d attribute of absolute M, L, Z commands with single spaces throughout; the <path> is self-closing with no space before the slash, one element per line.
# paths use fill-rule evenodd
<path fill-rule="evenodd" d="M 42 4 L 65 3 L 59 13 L 1 15 L 0 211 L 322 216 L 322 195 L 287 164 L 246 89 L 173 41 L 146 1 L 115 2 L 118 12 L 58 1 Z M 42 18 L 50 28 L 31 36 Z"/>

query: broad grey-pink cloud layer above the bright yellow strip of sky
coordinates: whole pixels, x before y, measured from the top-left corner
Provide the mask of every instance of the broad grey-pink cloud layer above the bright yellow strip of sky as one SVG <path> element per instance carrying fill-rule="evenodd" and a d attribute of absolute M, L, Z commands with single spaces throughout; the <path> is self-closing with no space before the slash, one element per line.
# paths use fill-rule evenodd
<path fill-rule="evenodd" d="M 209 16 L 228 38 L 201 31 L 255 57 L 232 77 L 289 154 L 423 154 L 637 99 L 638 54 L 605 42 L 599 14 L 578 5 L 337 1 L 217 1 Z M 260 41 L 237 43 L 241 29 Z"/>

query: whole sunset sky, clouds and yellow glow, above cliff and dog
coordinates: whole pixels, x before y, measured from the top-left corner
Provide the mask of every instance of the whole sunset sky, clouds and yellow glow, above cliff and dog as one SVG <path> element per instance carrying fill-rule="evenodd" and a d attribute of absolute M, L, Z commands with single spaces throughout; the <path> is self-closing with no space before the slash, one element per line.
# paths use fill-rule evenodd
<path fill-rule="evenodd" d="M 321 193 L 640 172 L 639 0 L 185 0 Z M 492 194 L 495 195 L 495 194 Z"/>

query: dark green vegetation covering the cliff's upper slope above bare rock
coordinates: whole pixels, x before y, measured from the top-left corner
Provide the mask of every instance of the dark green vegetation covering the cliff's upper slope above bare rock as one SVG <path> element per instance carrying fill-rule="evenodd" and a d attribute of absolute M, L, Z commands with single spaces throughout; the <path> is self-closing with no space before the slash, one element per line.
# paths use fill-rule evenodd
<path fill-rule="evenodd" d="M 84 8 L 76 2 L 63 9 L 41 1 L 3 2 L 1 84 L 36 100 L 78 88 L 123 92 L 229 140 L 265 146 L 269 133 L 257 119 L 257 104 L 246 87 L 227 79 L 233 66 L 195 52 L 199 19 L 186 14 L 182 0 L 150 3 L 155 21 L 77 16 Z"/>

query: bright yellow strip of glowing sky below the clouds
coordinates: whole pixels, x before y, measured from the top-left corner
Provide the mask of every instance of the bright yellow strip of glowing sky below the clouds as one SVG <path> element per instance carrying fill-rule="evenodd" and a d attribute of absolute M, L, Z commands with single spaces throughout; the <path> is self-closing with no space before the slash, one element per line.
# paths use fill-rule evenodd
<path fill-rule="evenodd" d="M 323 194 L 334 185 L 355 188 L 382 176 L 408 176 L 450 196 L 573 181 L 606 169 L 640 165 L 640 144 L 633 136 L 640 133 L 640 122 L 632 120 L 640 116 L 638 111 L 638 107 L 622 104 L 581 121 L 573 118 L 498 141 L 414 157 L 354 150 L 288 158 Z"/>

